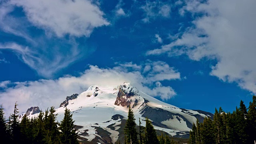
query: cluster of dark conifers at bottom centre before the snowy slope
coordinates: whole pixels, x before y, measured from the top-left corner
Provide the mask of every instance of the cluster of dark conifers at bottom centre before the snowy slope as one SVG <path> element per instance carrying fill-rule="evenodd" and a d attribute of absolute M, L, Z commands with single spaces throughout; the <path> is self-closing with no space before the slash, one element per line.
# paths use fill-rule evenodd
<path fill-rule="evenodd" d="M 146 126 L 141 126 L 141 122 L 139 120 L 139 130 L 136 130 L 136 122 L 135 122 L 134 114 L 132 109 L 129 107 L 128 119 L 126 122 L 126 126 L 124 128 L 125 136 L 124 136 L 124 144 L 178 144 L 174 140 L 170 140 L 168 136 L 157 136 L 156 130 L 152 125 L 151 121 L 146 118 Z M 116 142 L 116 144 L 120 144 Z"/>

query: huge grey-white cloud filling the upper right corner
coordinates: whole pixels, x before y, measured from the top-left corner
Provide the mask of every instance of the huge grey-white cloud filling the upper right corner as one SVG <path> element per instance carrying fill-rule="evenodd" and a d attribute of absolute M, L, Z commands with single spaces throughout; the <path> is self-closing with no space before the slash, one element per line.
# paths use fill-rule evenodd
<path fill-rule="evenodd" d="M 196 16 L 180 38 L 147 54 L 186 54 L 192 60 L 217 60 L 210 74 L 225 82 L 236 82 L 256 94 L 255 0 L 185 0 L 182 15 Z"/>

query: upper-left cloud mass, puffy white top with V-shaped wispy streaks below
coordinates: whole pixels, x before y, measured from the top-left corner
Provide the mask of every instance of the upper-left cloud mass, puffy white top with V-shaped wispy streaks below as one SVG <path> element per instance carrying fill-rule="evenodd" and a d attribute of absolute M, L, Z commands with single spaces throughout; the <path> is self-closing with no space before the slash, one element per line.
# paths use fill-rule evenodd
<path fill-rule="evenodd" d="M 23 17 L 12 14 L 17 7 Z M 0 29 L 26 42 L 0 41 L 0 49 L 12 50 L 38 74 L 51 78 L 95 50 L 80 45 L 77 37 L 89 37 L 94 28 L 109 24 L 90 0 L 6 0 L 0 4 Z M 38 30 L 36 36 L 31 28 Z"/>

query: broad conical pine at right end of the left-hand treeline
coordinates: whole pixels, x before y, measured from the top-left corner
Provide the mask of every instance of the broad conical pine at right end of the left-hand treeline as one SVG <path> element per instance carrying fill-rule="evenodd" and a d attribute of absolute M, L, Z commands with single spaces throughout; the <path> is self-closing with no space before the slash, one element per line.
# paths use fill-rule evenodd
<path fill-rule="evenodd" d="M 69 109 L 65 109 L 64 118 L 60 122 L 60 140 L 62 144 L 79 144 L 77 132 Z"/>

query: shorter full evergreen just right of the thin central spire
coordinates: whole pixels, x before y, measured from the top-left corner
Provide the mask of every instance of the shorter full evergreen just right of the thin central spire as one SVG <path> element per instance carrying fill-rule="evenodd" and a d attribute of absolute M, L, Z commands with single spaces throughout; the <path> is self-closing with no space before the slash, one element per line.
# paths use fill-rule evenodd
<path fill-rule="evenodd" d="M 157 139 L 156 130 L 154 129 L 154 126 L 151 124 L 151 121 L 146 118 L 146 144 L 159 144 L 159 141 Z"/>

